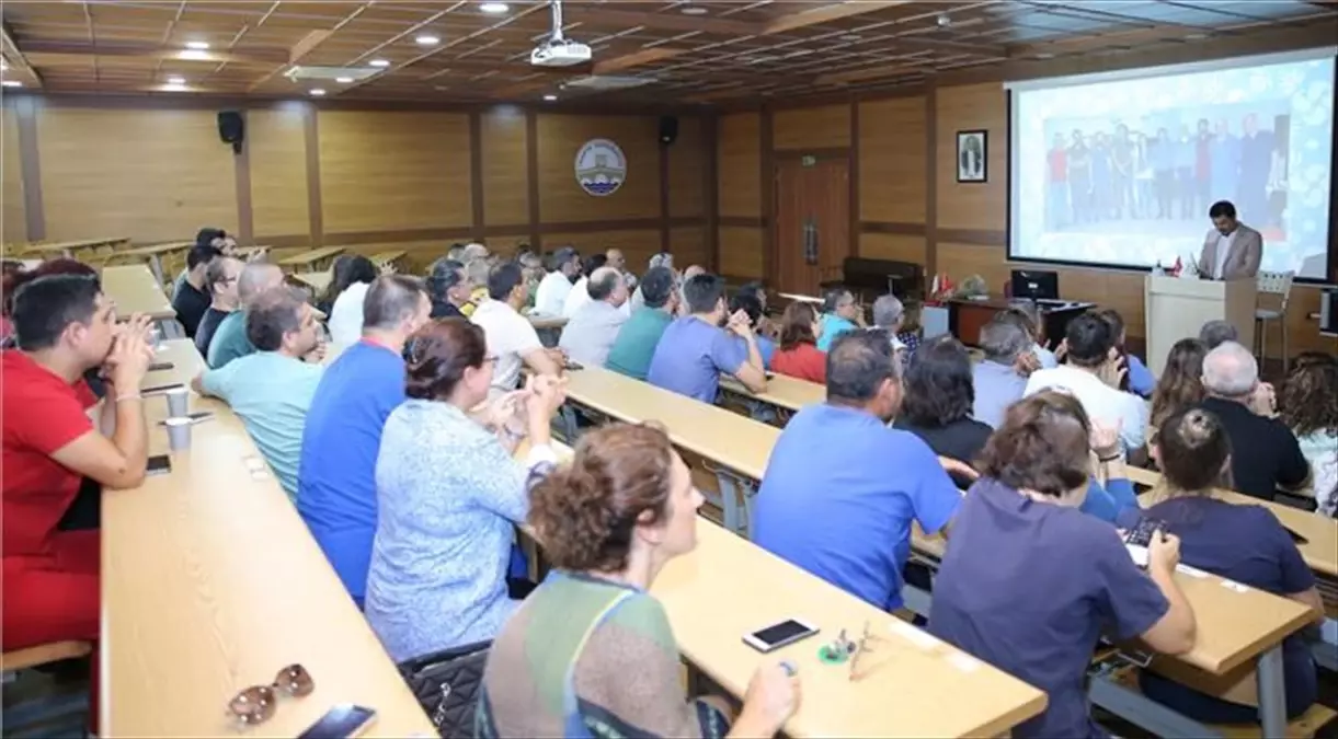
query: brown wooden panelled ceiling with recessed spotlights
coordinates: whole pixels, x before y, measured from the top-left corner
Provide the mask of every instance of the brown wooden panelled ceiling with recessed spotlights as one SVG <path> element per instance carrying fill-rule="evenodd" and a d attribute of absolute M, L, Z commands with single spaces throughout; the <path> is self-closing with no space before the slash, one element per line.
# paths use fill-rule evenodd
<path fill-rule="evenodd" d="M 565 33 L 589 44 L 594 61 L 545 69 L 529 53 L 549 33 L 549 4 L 507 5 L 490 13 L 478 0 L 8 0 L 0 52 L 7 80 L 51 92 L 278 98 L 321 88 L 353 100 L 733 104 L 917 84 L 1005 61 L 1214 44 L 1338 17 L 1323 0 L 569 0 Z M 421 35 L 439 43 L 423 45 Z M 199 44 L 209 48 L 190 48 Z M 388 65 L 353 83 L 285 76 L 294 64 L 373 60 Z M 653 82 L 567 84 L 590 75 Z"/>

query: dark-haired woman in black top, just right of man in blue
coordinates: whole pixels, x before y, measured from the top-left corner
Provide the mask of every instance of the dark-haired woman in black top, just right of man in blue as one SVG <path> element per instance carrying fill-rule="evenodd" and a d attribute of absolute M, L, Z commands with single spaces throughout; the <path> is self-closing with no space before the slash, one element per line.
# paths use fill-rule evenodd
<path fill-rule="evenodd" d="M 922 343 L 904 385 L 894 428 L 921 437 L 941 457 L 975 460 L 994 429 L 971 418 L 971 357 L 962 342 L 945 334 Z"/>

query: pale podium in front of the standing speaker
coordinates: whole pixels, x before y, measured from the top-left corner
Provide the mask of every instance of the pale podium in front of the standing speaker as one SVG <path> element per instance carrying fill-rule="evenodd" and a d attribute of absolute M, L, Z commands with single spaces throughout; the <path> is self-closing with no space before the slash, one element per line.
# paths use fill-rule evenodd
<path fill-rule="evenodd" d="M 1208 321 L 1226 321 L 1240 333 L 1240 343 L 1254 346 L 1255 279 L 1179 278 L 1149 274 L 1143 283 L 1148 321 L 1148 369 L 1161 377 L 1171 346 L 1199 335 Z"/>

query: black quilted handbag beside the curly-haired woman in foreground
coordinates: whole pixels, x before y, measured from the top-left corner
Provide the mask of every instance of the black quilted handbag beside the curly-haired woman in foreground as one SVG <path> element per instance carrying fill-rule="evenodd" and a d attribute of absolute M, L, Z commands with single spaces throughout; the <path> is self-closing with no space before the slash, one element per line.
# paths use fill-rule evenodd
<path fill-rule="evenodd" d="M 490 647 L 492 641 L 478 641 L 396 666 L 442 736 L 474 736 L 474 714 Z"/>

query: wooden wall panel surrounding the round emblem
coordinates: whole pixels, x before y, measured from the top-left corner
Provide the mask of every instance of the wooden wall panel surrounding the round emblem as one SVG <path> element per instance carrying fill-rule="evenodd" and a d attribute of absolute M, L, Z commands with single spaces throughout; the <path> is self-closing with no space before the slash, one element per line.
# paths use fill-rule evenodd
<path fill-rule="evenodd" d="M 575 179 L 577 151 L 590 139 L 610 139 L 628 158 L 626 180 L 605 198 L 589 195 Z M 538 160 L 539 220 L 545 223 L 660 218 L 656 118 L 541 115 Z"/>

